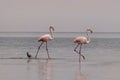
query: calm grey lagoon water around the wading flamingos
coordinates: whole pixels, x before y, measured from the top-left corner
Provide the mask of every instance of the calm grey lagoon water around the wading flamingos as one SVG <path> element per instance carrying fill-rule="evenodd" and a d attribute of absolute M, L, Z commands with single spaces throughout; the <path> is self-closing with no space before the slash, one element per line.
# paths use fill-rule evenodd
<path fill-rule="evenodd" d="M 0 33 L 0 80 L 120 80 L 120 33 L 95 32 L 91 42 L 83 45 L 86 60 L 79 64 L 73 50 L 73 39 L 85 33 L 55 33 L 48 42 L 51 59 L 47 59 L 43 45 L 38 59 L 35 56 L 44 32 Z"/>

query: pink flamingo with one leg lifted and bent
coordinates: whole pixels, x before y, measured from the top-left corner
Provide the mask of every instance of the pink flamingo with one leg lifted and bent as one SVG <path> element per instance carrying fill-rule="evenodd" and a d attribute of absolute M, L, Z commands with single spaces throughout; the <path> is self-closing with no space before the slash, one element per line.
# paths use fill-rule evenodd
<path fill-rule="evenodd" d="M 87 35 L 87 37 L 79 36 L 79 37 L 76 37 L 74 39 L 74 43 L 77 43 L 77 46 L 75 47 L 74 51 L 79 54 L 79 62 L 81 61 L 81 56 L 82 56 L 83 59 L 85 59 L 85 56 L 81 54 L 81 48 L 82 48 L 83 44 L 90 43 L 89 32 L 93 33 L 92 29 L 87 28 L 86 29 L 86 35 Z M 77 51 L 76 49 L 79 47 L 79 45 L 80 45 L 80 48 L 79 48 L 79 51 Z"/>

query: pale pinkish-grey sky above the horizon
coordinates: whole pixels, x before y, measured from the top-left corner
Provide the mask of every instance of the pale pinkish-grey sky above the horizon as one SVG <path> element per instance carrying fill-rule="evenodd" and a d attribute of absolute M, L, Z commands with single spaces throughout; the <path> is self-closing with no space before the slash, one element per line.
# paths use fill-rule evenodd
<path fill-rule="evenodd" d="M 0 32 L 120 32 L 120 0 L 0 0 Z"/>

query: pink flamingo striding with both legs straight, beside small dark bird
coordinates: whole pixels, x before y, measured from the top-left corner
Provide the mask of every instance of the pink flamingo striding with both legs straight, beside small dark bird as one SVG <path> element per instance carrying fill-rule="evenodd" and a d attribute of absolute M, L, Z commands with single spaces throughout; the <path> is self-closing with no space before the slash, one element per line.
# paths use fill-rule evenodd
<path fill-rule="evenodd" d="M 49 55 L 49 52 L 48 52 L 48 44 L 47 44 L 47 41 L 54 39 L 54 36 L 53 36 L 54 27 L 53 27 L 53 26 L 50 26 L 50 27 L 49 27 L 49 31 L 50 31 L 50 34 L 45 34 L 45 35 L 41 36 L 41 37 L 38 39 L 38 42 L 41 42 L 41 44 L 40 44 L 40 46 L 38 47 L 37 53 L 36 53 L 36 55 L 35 55 L 35 58 L 37 58 L 38 52 L 39 52 L 39 50 L 40 50 L 40 47 L 42 46 L 42 44 L 43 44 L 44 42 L 46 43 L 46 51 L 47 51 L 48 58 L 50 58 L 50 55 Z"/>

